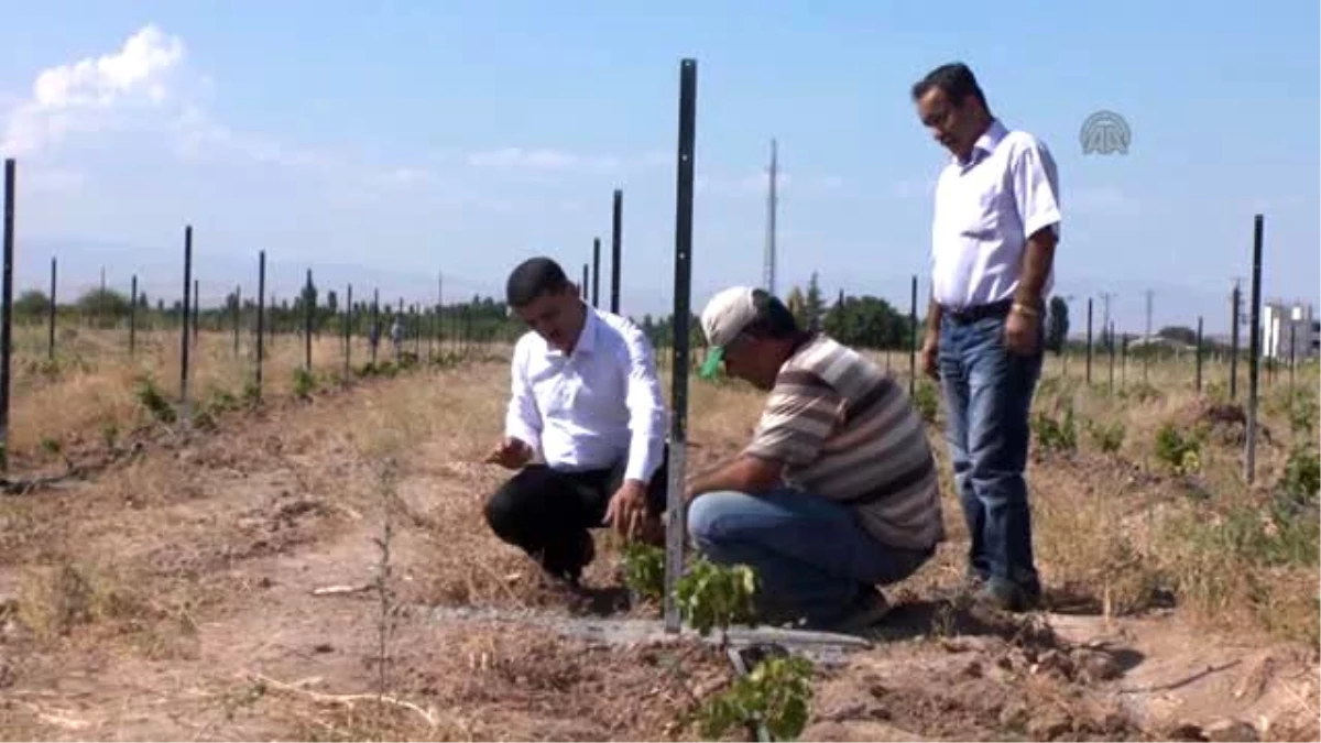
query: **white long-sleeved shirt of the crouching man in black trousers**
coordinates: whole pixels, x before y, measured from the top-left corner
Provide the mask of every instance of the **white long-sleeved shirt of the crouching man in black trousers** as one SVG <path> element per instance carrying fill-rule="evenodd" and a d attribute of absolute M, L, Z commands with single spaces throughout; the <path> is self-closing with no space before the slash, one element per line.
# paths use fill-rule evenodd
<path fill-rule="evenodd" d="M 649 483 L 664 453 L 666 409 L 655 353 L 625 317 L 587 308 L 572 354 L 535 332 L 514 346 L 505 432 L 553 469 L 608 469 Z"/>

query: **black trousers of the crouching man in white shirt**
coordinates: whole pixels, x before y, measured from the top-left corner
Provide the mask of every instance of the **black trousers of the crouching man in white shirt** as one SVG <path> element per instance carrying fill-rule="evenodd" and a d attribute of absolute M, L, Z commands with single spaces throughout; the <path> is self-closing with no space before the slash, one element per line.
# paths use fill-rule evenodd
<path fill-rule="evenodd" d="M 668 450 L 647 484 L 647 512 L 664 513 Z M 590 529 L 604 526 L 610 496 L 624 484 L 621 461 L 609 469 L 557 472 L 530 464 L 486 501 L 497 537 L 536 559 L 551 575 L 577 579 L 596 557 Z"/>

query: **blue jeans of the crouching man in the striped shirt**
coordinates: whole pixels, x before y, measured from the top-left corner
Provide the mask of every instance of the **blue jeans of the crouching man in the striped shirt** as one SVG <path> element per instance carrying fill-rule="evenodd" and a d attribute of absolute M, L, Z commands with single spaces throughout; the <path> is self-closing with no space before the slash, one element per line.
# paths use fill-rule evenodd
<path fill-rule="evenodd" d="M 699 496 L 688 504 L 688 533 L 711 562 L 757 571 L 758 619 L 768 624 L 831 627 L 864 590 L 908 578 L 934 551 L 886 547 L 848 506 L 787 488 Z"/>

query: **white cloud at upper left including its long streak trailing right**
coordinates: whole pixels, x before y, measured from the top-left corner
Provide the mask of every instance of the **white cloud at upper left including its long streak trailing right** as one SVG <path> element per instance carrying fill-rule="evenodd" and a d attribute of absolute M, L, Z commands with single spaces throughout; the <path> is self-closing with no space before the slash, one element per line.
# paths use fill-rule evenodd
<path fill-rule="evenodd" d="M 115 135 L 139 135 L 139 141 L 147 135 L 153 149 L 192 167 L 288 169 L 309 178 L 309 190 L 332 193 L 338 204 L 379 204 L 408 193 L 431 205 L 495 210 L 513 206 L 476 188 L 472 173 L 461 172 L 465 165 L 499 180 L 621 177 L 630 168 L 674 163 L 674 155 L 659 151 L 621 157 L 552 147 L 473 152 L 441 145 L 395 163 L 355 157 L 342 148 L 310 149 L 217 120 L 206 106 L 217 83 L 205 70 L 189 69 L 186 57 L 184 40 L 147 24 L 112 52 L 40 70 L 28 95 L 0 97 L 0 152 L 24 157 L 29 168 L 46 168 L 30 171 L 34 186 L 67 193 L 82 188 L 86 177 L 50 171 L 49 161 L 62 149 L 91 144 L 118 151 L 123 143 Z"/>

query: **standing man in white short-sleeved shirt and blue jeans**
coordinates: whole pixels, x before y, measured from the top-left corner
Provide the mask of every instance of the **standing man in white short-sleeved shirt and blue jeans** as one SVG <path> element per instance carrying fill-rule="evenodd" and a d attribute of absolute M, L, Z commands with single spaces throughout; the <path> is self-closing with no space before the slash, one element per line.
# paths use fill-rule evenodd
<path fill-rule="evenodd" d="M 968 579 L 980 599 L 1024 611 L 1041 598 L 1024 469 L 1059 239 L 1055 163 L 1045 143 L 991 114 L 963 63 L 937 67 L 911 94 L 952 153 L 935 186 L 922 365 L 948 409 Z"/>

